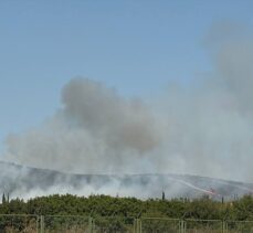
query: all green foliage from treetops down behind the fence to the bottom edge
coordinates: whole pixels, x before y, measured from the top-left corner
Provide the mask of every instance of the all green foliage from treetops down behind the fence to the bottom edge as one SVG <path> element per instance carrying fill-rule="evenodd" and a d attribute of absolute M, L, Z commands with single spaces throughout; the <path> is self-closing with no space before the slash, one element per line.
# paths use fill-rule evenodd
<path fill-rule="evenodd" d="M 219 202 L 207 197 L 196 200 L 138 200 L 109 195 L 85 198 L 54 194 L 28 201 L 4 200 L 0 204 L 0 232 L 34 232 L 39 215 L 44 216 L 45 232 L 87 231 L 91 220 L 94 221 L 92 224 L 96 232 L 131 232 L 134 226 L 137 227 L 138 219 L 141 219 L 143 230 L 148 233 L 177 232 L 182 221 L 192 231 L 218 231 L 223 220 L 229 229 L 243 227 L 250 232 L 252 222 L 247 224 L 238 221 L 253 221 L 253 198 L 245 195 L 232 202 Z"/>

